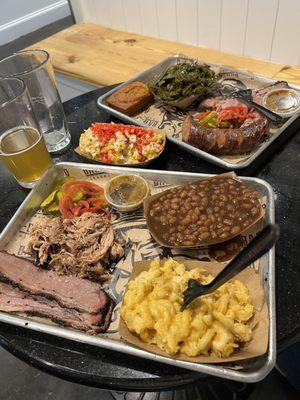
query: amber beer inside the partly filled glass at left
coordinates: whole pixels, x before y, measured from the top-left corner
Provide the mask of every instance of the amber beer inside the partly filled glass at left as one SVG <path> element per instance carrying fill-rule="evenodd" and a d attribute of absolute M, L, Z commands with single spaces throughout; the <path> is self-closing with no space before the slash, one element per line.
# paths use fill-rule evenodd
<path fill-rule="evenodd" d="M 36 129 L 24 126 L 1 135 L 0 159 L 25 188 L 32 188 L 52 165 L 43 136 Z"/>

